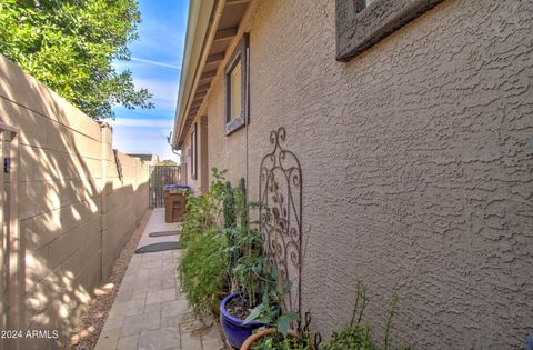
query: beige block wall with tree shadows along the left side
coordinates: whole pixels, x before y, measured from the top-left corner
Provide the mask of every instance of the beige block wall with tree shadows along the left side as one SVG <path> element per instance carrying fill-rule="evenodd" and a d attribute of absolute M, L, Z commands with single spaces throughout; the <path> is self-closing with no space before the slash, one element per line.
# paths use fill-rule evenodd
<path fill-rule="evenodd" d="M 148 209 L 148 167 L 2 56 L 0 121 L 20 130 L 20 327 L 64 336 Z M 21 343 L 39 347 L 52 341 Z"/>

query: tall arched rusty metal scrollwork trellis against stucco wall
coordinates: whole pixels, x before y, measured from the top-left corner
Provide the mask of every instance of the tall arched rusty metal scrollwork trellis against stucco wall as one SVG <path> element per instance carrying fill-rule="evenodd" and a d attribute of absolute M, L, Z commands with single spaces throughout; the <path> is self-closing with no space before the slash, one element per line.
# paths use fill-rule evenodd
<path fill-rule="evenodd" d="M 285 129 L 270 133 L 274 149 L 260 168 L 260 229 L 266 260 L 278 269 L 278 283 L 286 288 L 284 311 L 301 313 L 302 293 L 302 168 L 296 156 L 283 148 Z"/>

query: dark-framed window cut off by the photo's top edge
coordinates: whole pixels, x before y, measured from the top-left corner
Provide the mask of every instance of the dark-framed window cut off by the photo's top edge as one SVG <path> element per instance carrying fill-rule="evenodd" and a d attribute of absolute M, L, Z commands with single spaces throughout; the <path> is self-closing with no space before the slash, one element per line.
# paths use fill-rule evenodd
<path fill-rule="evenodd" d="M 336 0 L 336 60 L 351 60 L 442 1 Z"/>

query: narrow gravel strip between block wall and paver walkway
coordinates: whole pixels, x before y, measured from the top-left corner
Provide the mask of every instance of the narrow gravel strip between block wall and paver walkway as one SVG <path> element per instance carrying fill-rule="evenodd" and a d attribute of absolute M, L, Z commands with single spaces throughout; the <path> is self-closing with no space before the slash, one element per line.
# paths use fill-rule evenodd
<path fill-rule="evenodd" d="M 89 309 L 82 318 L 81 323 L 76 328 L 70 339 L 67 339 L 64 349 L 68 350 L 89 350 L 97 346 L 98 337 L 102 331 L 109 310 L 113 304 L 114 297 L 119 291 L 120 282 L 124 277 L 125 269 L 130 263 L 130 259 L 137 249 L 137 244 L 141 239 L 142 232 L 150 219 L 151 210 L 144 214 L 140 226 L 131 237 L 128 244 L 120 253 L 113 266 L 113 272 L 109 280 L 95 291 L 95 296 L 89 302 Z"/>

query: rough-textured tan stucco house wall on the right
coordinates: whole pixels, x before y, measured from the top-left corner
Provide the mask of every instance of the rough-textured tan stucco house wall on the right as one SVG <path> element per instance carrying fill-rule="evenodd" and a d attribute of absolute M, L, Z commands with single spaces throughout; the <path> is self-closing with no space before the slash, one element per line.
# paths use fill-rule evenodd
<path fill-rule="evenodd" d="M 445 0 L 335 61 L 334 1 L 255 2 L 248 177 L 271 130 L 303 168 L 304 309 L 326 337 L 355 280 L 381 326 L 416 349 L 523 348 L 533 336 L 533 7 Z M 219 76 L 203 111 L 209 162 L 247 176 L 247 131 L 223 134 Z M 185 144 L 187 147 L 187 144 Z"/>

